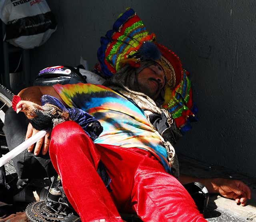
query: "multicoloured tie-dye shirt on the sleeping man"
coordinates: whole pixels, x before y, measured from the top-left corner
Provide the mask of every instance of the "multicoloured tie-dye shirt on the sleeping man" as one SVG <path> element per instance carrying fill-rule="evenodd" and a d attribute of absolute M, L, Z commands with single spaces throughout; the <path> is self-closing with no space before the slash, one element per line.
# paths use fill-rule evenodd
<path fill-rule="evenodd" d="M 146 149 L 170 172 L 167 151 L 160 137 L 133 102 L 102 85 L 78 83 L 53 87 L 70 108 L 80 108 L 100 122 L 103 132 L 95 143 Z"/>

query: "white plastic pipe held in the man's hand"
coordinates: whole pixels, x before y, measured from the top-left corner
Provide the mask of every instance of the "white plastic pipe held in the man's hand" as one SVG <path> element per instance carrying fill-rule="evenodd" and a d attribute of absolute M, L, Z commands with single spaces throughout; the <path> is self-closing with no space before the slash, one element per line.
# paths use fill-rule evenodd
<path fill-rule="evenodd" d="M 22 151 L 36 143 L 39 139 L 44 137 L 46 135 L 45 130 L 41 130 L 38 133 L 36 133 L 34 136 L 28 138 L 26 141 L 12 149 L 10 152 L 6 153 L 3 157 L 0 158 L 0 167 L 2 165 L 6 164 L 8 161 L 10 161 L 12 158 L 16 157 L 18 154 L 20 154 Z"/>

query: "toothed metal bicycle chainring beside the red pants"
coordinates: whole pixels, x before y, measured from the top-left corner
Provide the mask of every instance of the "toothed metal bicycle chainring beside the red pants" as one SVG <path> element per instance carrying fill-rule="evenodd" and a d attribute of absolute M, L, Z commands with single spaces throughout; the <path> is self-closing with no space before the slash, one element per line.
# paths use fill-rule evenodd
<path fill-rule="evenodd" d="M 33 202 L 26 207 L 26 216 L 32 222 L 62 222 L 66 215 L 58 216 L 46 208 L 45 201 Z"/>

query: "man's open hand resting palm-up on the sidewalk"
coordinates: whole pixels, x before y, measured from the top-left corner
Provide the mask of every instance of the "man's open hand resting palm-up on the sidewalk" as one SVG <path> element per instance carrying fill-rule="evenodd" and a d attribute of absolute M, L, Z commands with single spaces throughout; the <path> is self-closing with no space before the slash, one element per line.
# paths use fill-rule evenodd
<path fill-rule="evenodd" d="M 213 185 L 220 195 L 236 200 L 236 203 L 246 205 L 248 199 L 251 198 L 250 188 L 242 181 L 230 179 L 215 179 Z"/>

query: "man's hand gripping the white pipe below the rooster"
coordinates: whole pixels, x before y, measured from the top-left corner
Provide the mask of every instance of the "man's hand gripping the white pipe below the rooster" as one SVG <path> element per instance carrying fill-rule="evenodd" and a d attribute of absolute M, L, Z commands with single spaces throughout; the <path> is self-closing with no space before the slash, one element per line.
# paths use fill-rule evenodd
<path fill-rule="evenodd" d="M 36 133 L 38 132 L 38 130 L 35 130 L 31 124 L 28 124 L 28 130 L 26 133 L 26 139 L 30 138 L 31 136 L 34 136 Z M 43 138 L 39 139 L 36 142 L 36 146 L 34 149 L 34 155 L 38 155 L 40 153 L 41 147 L 42 147 L 42 154 L 45 155 L 48 151 L 49 148 L 49 144 L 50 144 L 50 133 L 47 133 Z M 28 147 L 28 152 L 32 152 L 33 151 L 33 147 L 34 145 Z"/>

